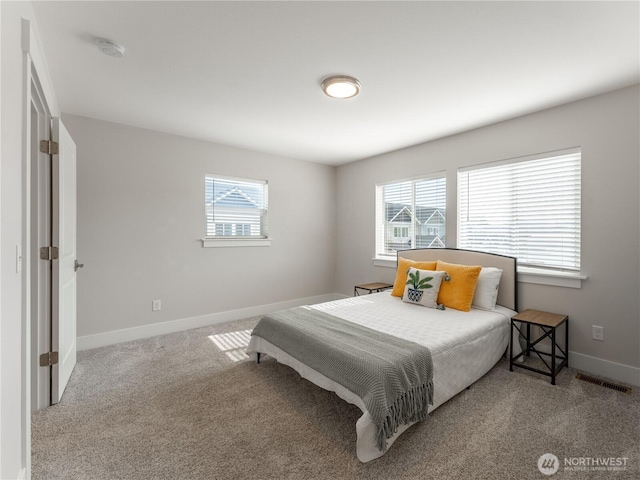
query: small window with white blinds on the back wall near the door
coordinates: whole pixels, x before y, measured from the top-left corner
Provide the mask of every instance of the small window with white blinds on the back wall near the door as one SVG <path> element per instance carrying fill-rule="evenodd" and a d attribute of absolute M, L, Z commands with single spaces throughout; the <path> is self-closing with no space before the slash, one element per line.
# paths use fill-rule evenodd
<path fill-rule="evenodd" d="M 207 238 L 267 238 L 267 182 L 205 176 Z"/>

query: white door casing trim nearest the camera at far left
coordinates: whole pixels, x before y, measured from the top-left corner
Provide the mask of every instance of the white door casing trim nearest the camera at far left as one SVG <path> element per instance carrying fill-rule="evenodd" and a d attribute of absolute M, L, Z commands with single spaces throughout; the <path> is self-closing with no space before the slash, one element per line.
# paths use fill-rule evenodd
<path fill-rule="evenodd" d="M 60 116 L 60 108 L 49 77 L 35 26 L 22 19 L 22 344 L 21 344 L 21 464 L 24 478 L 31 478 L 31 105 L 34 78 L 39 82 L 42 100 L 51 116 Z M 37 260 L 37 259 L 35 259 Z"/>

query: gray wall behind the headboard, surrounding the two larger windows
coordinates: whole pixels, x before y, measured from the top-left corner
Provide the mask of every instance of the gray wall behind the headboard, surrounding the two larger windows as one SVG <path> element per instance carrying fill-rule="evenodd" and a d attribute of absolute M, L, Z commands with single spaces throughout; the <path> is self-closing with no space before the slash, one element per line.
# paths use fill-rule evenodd
<path fill-rule="evenodd" d="M 393 281 L 372 264 L 375 184 L 447 172 L 447 243 L 456 241 L 457 168 L 579 146 L 582 148 L 581 289 L 520 283 L 520 309 L 570 316 L 569 349 L 640 366 L 638 86 L 545 110 L 338 168 L 337 291 Z M 591 339 L 591 325 L 605 341 Z"/>

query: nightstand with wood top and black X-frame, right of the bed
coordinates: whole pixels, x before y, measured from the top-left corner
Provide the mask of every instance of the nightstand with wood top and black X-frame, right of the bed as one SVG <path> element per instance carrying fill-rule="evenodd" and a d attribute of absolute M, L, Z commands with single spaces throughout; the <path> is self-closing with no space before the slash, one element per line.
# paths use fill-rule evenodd
<path fill-rule="evenodd" d="M 519 322 L 520 327 L 518 327 L 515 323 Z M 556 342 L 556 329 L 564 324 L 564 350 L 557 344 Z M 526 325 L 526 333 L 522 331 L 523 327 Z M 540 329 L 544 332 L 539 338 L 535 340 L 531 340 L 531 325 L 536 325 L 540 327 Z M 540 373 L 542 375 L 546 375 L 551 377 L 551 385 L 556 384 L 556 375 L 563 367 L 569 366 L 569 317 L 567 315 L 561 315 L 558 313 L 549 313 L 542 312 L 540 310 L 525 310 L 524 312 L 520 312 L 517 315 L 514 315 L 511 318 L 511 338 L 513 338 L 513 329 L 518 330 L 521 336 L 523 336 L 526 341 L 526 347 L 519 353 L 518 355 L 513 355 L 513 349 L 509 352 L 509 370 L 513 372 L 513 367 L 524 368 L 526 370 L 530 370 L 532 372 Z M 540 343 L 545 338 L 551 339 L 551 353 L 542 352 L 536 348 L 536 345 Z M 558 355 L 559 353 L 562 356 Z M 535 353 L 542 363 L 547 367 L 546 370 L 540 370 L 538 368 L 531 367 L 529 365 L 524 365 L 522 363 L 515 363 L 518 359 L 523 356 L 531 356 L 531 352 Z M 550 357 L 551 365 L 547 363 L 547 361 L 542 357 L 542 355 L 546 357 Z M 560 360 L 560 363 L 558 363 Z"/>

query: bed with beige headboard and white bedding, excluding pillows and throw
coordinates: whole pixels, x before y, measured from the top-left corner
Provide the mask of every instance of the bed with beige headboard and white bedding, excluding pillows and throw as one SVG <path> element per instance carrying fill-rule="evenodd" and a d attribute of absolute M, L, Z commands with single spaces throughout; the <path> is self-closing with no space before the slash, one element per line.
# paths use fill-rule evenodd
<path fill-rule="evenodd" d="M 472 307 L 463 312 L 452 308 L 440 310 L 412 305 L 401 298 L 392 296 L 390 291 L 345 298 L 333 302 L 298 307 L 285 312 L 289 316 L 316 315 L 317 312 L 330 314 L 354 328 L 372 329 L 393 339 L 407 340 L 428 349 L 432 361 L 432 397 L 428 412 L 432 412 L 447 400 L 486 374 L 508 353 L 510 344 L 520 349 L 516 341 L 509 339 L 510 318 L 517 312 L 516 259 L 501 255 L 458 249 L 413 249 L 398 252 L 398 261 L 444 261 L 451 264 L 495 267 L 502 270 L 497 290 L 495 308 L 484 310 Z M 260 322 L 266 321 L 263 318 Z M 361 462 L 368 462 L 384 455 L 393 442 L 415 421 L 398 425 L 380 446 L 380 426 L 367 408 L 363 396 L 357 389 L 343 386 L 344 382 L 332 380 L 331 374 L 322 374 L 304 361 L 290 346 L 282 348 L 278 336 L 271 341 L 254 330 L 247 354 L 260 362 L 261 356 L 268 355 L 278 362 L 296 370 L 303 378 L 315 385 L 335 392 L 343 400 L 358 406 L 363 414 L 356 422 L 356 454 Z M 264 327 L 262 328 L 264 331 Z M 516 351 L 516 353 L 518 353 Z M 331 356 L 329 354 L 328 356 Z M 296 358 L 297 357 L 297 358 Z M 370 405 L 370 404 L 369 404 Z M 425 409 L 426 410 L 426 409 Z M 372 410 L 373 412 L 373 410 Z"/>

